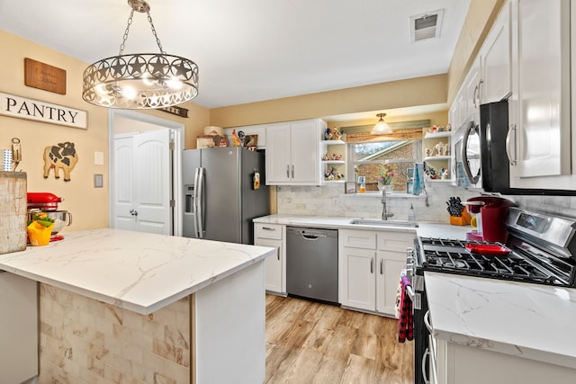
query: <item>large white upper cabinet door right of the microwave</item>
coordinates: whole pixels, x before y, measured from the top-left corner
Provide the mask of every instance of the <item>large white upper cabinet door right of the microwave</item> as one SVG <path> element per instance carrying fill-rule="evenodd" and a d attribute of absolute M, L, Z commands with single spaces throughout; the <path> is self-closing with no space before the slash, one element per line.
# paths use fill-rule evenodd
<path fill-rule="evenodd" d="M 571 3 L 512 1 L 516 16 L 508 140 L 512 187 L 574 188 L 570 176 Z"/>

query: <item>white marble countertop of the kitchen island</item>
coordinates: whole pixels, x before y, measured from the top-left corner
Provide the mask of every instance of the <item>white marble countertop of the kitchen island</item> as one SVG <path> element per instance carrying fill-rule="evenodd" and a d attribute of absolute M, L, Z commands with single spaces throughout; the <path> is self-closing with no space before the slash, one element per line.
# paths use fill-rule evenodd
<path fill-rule="evenodd" d="M 273 254 L 266 246 L 104 228 L 0 255 L 0 270 L 146 315 Z"/>

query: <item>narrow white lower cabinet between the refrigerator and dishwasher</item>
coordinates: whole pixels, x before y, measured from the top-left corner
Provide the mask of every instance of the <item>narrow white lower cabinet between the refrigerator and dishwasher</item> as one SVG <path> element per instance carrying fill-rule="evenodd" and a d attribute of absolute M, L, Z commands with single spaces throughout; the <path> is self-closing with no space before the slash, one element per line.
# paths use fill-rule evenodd
<path fill-rule="evenodd" d="M 279 295 L 286 295 L 285 231 L 279 224 L 254 224 L 254 245 L 276 248 L 276 255 L 266 257 L 266 291 Z"/>

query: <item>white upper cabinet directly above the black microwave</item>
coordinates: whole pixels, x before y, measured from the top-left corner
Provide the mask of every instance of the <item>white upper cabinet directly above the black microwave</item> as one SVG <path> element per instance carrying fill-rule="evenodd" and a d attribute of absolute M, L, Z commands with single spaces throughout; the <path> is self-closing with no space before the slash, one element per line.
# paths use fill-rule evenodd
<path fill-rule="evenodd" d="M 504 5 L 480 52 L 480 101 L 499 102 L 512 94 L 510 7 Z"/>

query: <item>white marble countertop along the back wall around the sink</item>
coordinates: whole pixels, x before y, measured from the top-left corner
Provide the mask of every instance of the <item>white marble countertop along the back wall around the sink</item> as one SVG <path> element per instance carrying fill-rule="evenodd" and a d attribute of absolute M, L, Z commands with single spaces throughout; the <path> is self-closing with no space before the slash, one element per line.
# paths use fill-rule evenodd
<path fill-rule="evenodd" d="M 418 221 L 418 228 L 406 228 L 394 226 L 394 220 L 383 221 L 389 225 L 358 225 L 350 224 L 353 219 L 338 216 L 300 216 L 300 215 L 268 215 L 254 219 L 255 223 L 282 224 L 295 227 L 312 228 L 336 228 L 336 229 L 369 229 L 385 231 L 416 232 L 421 237 L 452 237 L 465 238 L 466 232 L 470 232 L 470 226 L 453 226 L 448 223 Z M 374 219 L 378 220 L 378 219 Z"/>

